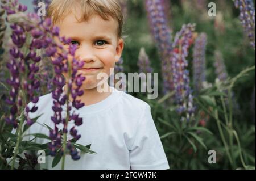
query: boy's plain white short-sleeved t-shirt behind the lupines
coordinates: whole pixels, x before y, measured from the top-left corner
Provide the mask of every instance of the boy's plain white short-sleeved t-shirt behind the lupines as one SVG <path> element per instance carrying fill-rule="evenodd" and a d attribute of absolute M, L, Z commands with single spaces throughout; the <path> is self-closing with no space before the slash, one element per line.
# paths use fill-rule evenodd
<path fill-rule="evenodd" d="M 76 110 L 83 118 L 83 124 L 76 127 L 78 134 L 81 134 L 77 143 L 91 144 L 90 150 L 96 154 L 79 153 L 81 158 L 78 161 L 73 161 L 67 155 L 65 169 L 169 169 L 150 106 L 125 92 L 111 89 L 113 92 L 108 98 Z M 49 130 L 43 124 L 54 128 L 51 121 L 52 94 L 41 96 L 36 105 L 38 110 L 30 113 L 30 117 L 42 116 L 30 127 L 29 133 L 49 135 Z M 73 125 L 71 121 L 68 128 Z M 38 139 L 36 142 L 43 144 L 49 140 Z M 52 169 L 52 160 L 53 157 L 46 157 L 46 163 L 40 165 L 41 169 Z M 53 169 L 60 167 L 61 161 Z"/>

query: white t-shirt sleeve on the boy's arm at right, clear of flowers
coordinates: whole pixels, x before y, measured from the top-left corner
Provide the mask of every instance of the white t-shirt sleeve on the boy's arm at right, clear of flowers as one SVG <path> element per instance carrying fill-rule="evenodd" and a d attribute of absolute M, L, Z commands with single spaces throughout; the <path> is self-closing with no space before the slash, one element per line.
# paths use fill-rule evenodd
<path fill-rule="evenodd" d="M 148 104 L 139 119 L 129 151 L 132 170 L 170 169 Z"/>

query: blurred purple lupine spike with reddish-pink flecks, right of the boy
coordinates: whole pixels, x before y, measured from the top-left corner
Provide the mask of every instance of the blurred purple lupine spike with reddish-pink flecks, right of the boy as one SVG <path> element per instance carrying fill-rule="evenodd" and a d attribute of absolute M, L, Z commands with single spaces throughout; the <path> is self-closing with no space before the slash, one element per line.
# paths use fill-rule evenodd
<path fill-rule="evenodd" d="M 173 43 L 171 62 L 174 75 L 175 100 L 178 105 L 179 114 L 186 113 L 187 120 L 193 117 L 195 107 L 193 107 L 192 90 L 189 87 L 189 71 L 187 70 L 188 48 L 193 41 L 194 24 L 183 25 L 176 33 Z M 182 117 L 184 119 L 184 117 Z"/>

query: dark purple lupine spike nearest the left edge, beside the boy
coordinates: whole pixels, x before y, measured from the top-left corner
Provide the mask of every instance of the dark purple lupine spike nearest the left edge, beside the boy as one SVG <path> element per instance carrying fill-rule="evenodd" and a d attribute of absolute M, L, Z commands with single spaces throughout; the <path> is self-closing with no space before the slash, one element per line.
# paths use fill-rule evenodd
<path fill-rule="evenodd" d="M 16 12 L 24 12 L 27 7 L 18 4 L 18 1 L 9 1 L 2 6 L 6 10 L 7 16 L 10 14 L 15 14 Z M 28 16 L 28 19 L 30 16 Z M 7 20 L 8 17 L 7 17 Z M 10 79 L 7 79 L 7 83 L 11 86 L 10 97 L 6 99 L 7 104 L 10 104 L 10 116 L 6 118 L 7 124 L 12 124 L 14 128 L 18 127 L 18 120 L 16 120 L 16 115 L 20 113 L 20 109 L 30 101 L 34 104 L 38 102 L 38 96 L 35 95 L 35 90 L 40 87 L 40 82 L 35 78 L 39 71 L 39 67 L 36 65 L 40 61 L 40 57 L 36 56 L 33 52 L 34 48 L 32 43 L 30 44 L 28 53 L 26 56 L 22 53 L 21 48 L 24 46 L 26 41 L 26 33 L 30 32 L 32 35 L 32 42 L 34 39 L 40 37 L 42 33 L 37 31 L 30 23 L 14 23 L 10 25 L 11 27 L 11 40 L 13 41 L 13 48 L 10 49 L 11 61 L 7 63 L 7 68 L 10 70 Z M 19 89 L 23 88 L 26 92 L 25 101 L 19 95 Z M 28 117 L 29 112 L 35 112 L 37 107 L 32 108 L 26 107 L 24 111 L 24 116 L 26 117 L 27 125 L 31 125 L 34 122 Z"/>

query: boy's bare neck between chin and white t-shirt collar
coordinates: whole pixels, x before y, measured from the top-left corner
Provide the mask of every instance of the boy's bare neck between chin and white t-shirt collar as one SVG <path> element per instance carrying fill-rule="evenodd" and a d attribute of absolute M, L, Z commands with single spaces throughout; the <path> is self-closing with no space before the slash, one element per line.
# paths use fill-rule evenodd
<path fill-rule="evenodd" d="M 108 90 L 110 89 L 108 85 Z M 64 90 L 67 91 L 67 86 L 64 87 Z M 83 89 L 84 95 L 81 97 L 77 97 L 77 100 L 81 100 L 82 103 L 85 104 L 85 106 L 89 106 L 92 104 L 96 104 L 98 102 L 101 102 L 102 100 L 108 98 L 110 96 L 111 92 L 98 92 L 97 87 L 93 89 Z M 72 101 L 72 96 L 69 96 L 69 100 Z"/>

